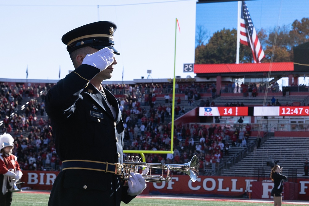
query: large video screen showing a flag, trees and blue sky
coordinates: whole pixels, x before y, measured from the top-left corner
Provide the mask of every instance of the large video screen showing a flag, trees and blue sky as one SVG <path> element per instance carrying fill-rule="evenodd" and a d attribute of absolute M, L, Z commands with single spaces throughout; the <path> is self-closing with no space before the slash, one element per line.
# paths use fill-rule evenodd
<path fill-rule="evenodd" d="M 307 0 L 205 2 L 196 8 L 195 64 L 291 62 L 308 41 Z"/>

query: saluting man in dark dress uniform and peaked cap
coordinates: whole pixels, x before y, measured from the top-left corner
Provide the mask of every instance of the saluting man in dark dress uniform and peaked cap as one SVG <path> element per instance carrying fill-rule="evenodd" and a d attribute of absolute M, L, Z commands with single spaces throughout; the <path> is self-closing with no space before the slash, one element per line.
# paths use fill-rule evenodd
<path fill-rule="evenodd" d="M 75 70 L 45 96 L 63 167 L 53 183 L 49 206 L 119 206 L 146 188 L 139 173 L 131 173 L 129 187 L 121 183 L 124 124 L 117 99 L 101 85 L 117 64 L 116 28 L 112 22 L 99 21 L 62 37 Z"/>

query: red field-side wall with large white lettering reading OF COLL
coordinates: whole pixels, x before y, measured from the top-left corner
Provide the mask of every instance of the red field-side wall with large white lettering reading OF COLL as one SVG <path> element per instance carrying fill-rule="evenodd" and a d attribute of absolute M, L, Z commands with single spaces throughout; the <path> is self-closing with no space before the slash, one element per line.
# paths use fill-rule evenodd
<path fill-rule="evenodd" d="M 51 190 L 58 173 L 23 171 L 21 181 L 25 184 L 22 187 Z M 253 195 L 252 198 L 271 199 L 272 187 L 272 182 L 257 182 L 257 179 L 252 177 L 199 176 L 196 182 L 192 182 L 188 175 L 173 175 L 168 183 L 147 183 L 147 188 L 142 194 L 241 197 L 247 191 Z M 298 190 L 295 191 L 295 188 Z M 289 191 L 289 194 L 285 192 L 285 200 L 309 200 L 309 179 L 297 179 L 296 184 L 285 183 L 285 189 Z"/>

